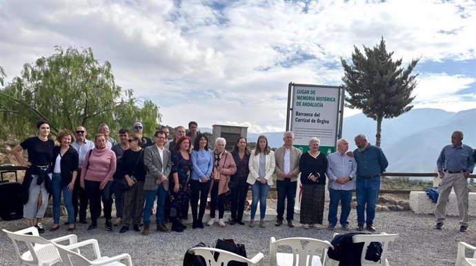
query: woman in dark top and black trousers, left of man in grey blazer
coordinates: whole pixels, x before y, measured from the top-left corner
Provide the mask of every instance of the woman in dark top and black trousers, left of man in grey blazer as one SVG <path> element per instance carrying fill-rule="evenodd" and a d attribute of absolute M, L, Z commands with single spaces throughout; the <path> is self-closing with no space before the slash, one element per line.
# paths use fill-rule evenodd
<path fill-rule="evenodd" d="M 141 222 L 143 203 L 146 201 L 143 192 L 143 184 L 146 181 L 146 167 L 143 163 L 142 138 L 134 133 L 128 139 L 129 150 L 124 151 L 121 157 L 121 167 L 129 186 L 124 191 L 124 218 L 122 228 L 119 233 L 128 231 L 132 221 L 134 231 L 140 232 L 139 223 Z"/>

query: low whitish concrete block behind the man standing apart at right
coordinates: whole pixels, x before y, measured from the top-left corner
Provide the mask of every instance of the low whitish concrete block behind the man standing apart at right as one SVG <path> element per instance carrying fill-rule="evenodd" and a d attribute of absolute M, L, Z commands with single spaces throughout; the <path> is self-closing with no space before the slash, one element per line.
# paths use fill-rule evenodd
<path fill-rule="evenodd" d="M 476 193 L 470 192 L 469 202 L 474 203 L 476 201 Z M 436 203 L 432 203 L 426 192 L 422 191 L 413 191 L 410 192 L 410 209 L 415 212 L 415 214 L 435 214 Z M 459 216 L 458 204 L 456 200 L 456 194 L 454 192 L 450 193 L 448 197 L 448 203 L 446 203 L 446 215 L 448 216 Z M 475 206 L 469 205 L 469 215 L 476 216 Z"/>

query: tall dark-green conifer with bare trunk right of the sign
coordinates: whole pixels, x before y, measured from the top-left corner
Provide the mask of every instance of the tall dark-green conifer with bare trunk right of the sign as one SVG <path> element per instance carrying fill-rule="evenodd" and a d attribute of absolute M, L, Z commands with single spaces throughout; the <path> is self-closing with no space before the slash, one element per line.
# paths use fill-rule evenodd
<path fill-rule="evenodd" d="M 376 146 L 381 143 L 381 121 L 410 111 L 413 108 L 410 103 L 415 99 L 411 94 L 417 85 L 418 74 L 411 72 L 419 59 L 413 59 L 404 69 L 400 68 L 401 59 L 393 61 L 392 55 L 393 52 L 387 52 L 382 37 L 374 48 L 364 45 L 364 53 L 354 46 L 351 65 L 341 59 L 343 86 L 348 93 L 346 106 L 361 109 L 377 121 Z"/>

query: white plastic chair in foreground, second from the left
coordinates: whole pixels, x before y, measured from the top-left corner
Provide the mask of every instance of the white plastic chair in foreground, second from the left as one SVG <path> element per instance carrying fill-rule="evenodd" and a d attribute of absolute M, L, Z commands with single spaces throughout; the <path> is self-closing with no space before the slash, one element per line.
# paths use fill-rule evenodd
<path fill-rule="evenodd" d="M 92 265 L 92 266 L 99 266 L 99 265 L 107 265 L 107 266 L 132 266 L 132 259 L 130 258 L 129 254 L 121 254 L 117 256 L 113 256 L 112 258 L 101 256 L 101 252 L 99 251 L 99 244 L 97 240 L 92 238 L 88 239 L 87 241 L 81 241 L 76 244 L 72 245 L 59 245 L 57 243 L 53 243 L 54 247 L 58 249 L 59 256 L 61 257 L 61 262 L 63 265 L 73 266 L 73 265 Z M 88 260 L 81 254 L 79 254 L 79 247 L 86 247 L 87 245 L 92 245 L 92 251 L 95 254 L 95 260 Z M 77 252 L 72 250 L 77 249 Z M 74 257 L 74 262 L 72 263 L 71 257 Z M 125 260 L 126 264 L 120 263 L 121 260 Z"/>

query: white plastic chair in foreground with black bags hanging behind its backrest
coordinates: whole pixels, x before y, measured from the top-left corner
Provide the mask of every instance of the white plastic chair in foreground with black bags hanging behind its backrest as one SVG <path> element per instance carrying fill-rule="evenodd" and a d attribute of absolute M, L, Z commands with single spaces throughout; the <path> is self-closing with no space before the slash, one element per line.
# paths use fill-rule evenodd
<path fill-rule="evenodd" d="M 188 252 L 190 252 L 190 254 L 202 256 L 209 266 L 228 265 L 228 262 L 231 260 L 239 263 L 248 263 L 248 265 L 264 266 L 264 255 L 261 252 L 252 258 L 245 258 L 235 253 L 227 252 L 223 249 L 216 249 L 214 247 L 194 247 L 189 249 Z M 216 260 L 213 257 L 215 252 L 219 253 Z"/>

